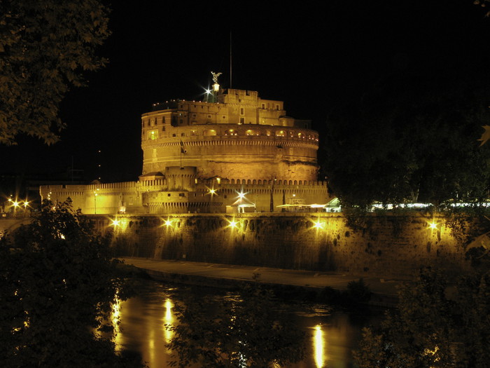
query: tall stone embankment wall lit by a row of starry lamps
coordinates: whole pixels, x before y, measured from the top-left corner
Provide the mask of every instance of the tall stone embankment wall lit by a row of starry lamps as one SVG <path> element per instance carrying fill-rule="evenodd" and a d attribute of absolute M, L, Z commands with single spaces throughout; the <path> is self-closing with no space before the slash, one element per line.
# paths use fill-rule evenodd
<path fill-rule="evenodd" d="M 421 266 L 468 271 L 461 244 L 444 219 L 372 214 L 353 230 L 342 214 L 119 215 L 113 231 L 121 256 L 246 264 L 353 275 L 409 277 Z M 436 229 L 430 223 L 437 224 Z M 315 224 L 318 224 L 315 226 Z"/>

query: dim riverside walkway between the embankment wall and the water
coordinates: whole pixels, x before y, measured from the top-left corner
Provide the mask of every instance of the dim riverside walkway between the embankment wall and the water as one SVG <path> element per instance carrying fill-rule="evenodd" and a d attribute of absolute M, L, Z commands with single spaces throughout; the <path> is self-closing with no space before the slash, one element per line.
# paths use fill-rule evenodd
<path fill-rule="evenodd" d="M 121 258 L 125 264 L 141 268 L 152 278 L 177 283 L 227 287 L 239 282 L 253 282 L 255 278 L 265 285 L 289 285 L 312 289 L 317 292 L 325 287 L 346 290 L 351 281 L 361 277 L 372 292 L 369 304 L 373 306 L 395 306 L 398 301 L 397 287 L 402 279 L 383 279 L 346 273 L 298 271 L 279 268 L 211 264 L 165 259 Z M 254 278 L 255 277 L 255 278 Z"/>

